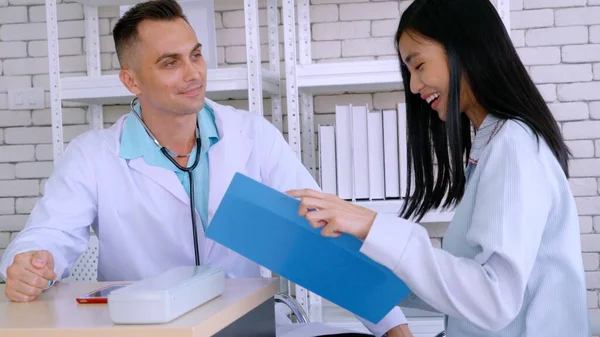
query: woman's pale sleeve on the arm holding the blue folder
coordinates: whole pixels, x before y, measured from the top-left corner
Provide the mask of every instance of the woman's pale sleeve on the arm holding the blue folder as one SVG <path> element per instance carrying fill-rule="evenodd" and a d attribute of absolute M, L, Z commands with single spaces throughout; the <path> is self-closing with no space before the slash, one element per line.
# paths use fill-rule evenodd
<path fill-rule="evenodd" d="M 521 309 L 552 203 L 537 152 L 504 142 L 477 168 L 482 172 L 466 237 L 479 251 L 473 259 L 433 248 L 423 227 L 385 215 L 377 215 L 361 248 L 434 308 L 494 331 Z"/>

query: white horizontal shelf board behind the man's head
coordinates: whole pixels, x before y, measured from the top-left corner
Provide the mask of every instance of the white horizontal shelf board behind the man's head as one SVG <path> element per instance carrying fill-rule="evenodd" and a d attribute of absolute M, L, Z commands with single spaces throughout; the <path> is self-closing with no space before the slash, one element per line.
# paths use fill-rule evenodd
<path fill-rule="evenodd" d="M 270 97 L 278 92 L 279 80 L 275 74 L 262 69 L 263 94 Z M 61 99 L 86 104 L 128 104 L 133 94 L 119 80 L 119 76 L 80 76 L 61 79 Z M 248 70 L 246 68 L 209 69 L 206 97 L 212 100 L 248 97 Z"/>

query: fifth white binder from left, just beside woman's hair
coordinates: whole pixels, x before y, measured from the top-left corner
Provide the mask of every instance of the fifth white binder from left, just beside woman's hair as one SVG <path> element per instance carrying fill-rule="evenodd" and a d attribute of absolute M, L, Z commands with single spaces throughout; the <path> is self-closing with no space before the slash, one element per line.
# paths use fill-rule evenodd
<path fill-rule="evenodd" d="M 400 197 L 398 157 L 398 112 L 383 111 L 383 158 L 385 169 L 385 197 Z"/>

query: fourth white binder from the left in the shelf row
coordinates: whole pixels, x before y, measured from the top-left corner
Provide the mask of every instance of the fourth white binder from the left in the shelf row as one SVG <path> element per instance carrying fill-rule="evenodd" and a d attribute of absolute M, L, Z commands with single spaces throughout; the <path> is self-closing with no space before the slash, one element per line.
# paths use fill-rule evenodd
<path fill-rule="evenodd" d="M 369 112 L 369 197 L 371 200 L 385 198 L 385 179 L 383 169 L 383 116 L 381 110 Z"/>

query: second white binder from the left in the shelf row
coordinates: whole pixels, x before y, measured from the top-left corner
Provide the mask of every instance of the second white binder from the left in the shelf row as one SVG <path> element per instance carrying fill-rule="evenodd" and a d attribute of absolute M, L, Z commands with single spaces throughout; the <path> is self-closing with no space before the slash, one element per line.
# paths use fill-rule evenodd
<path fill-rule="evenodd" d="M 335 149 L 337 167 L 337 190 L 341 199 L 352 200 L 352 114 L 351 107 L 335 107 Z"/>

